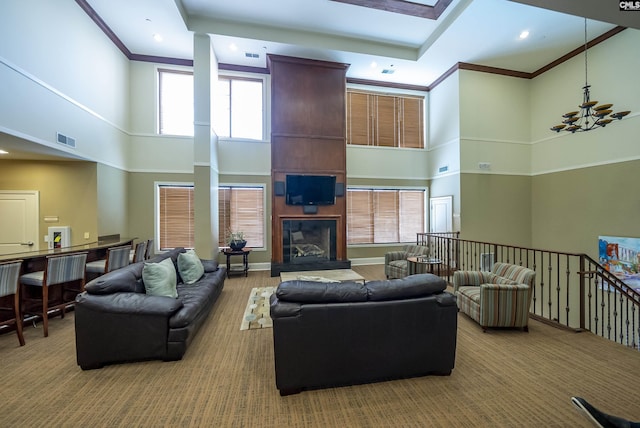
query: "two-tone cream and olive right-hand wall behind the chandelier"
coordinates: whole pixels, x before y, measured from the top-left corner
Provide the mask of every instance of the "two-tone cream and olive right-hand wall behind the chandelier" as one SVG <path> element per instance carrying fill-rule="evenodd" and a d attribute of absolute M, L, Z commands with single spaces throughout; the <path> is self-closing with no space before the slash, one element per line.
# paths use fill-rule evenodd
<path fill-rule="evenodd" d="M 640 237 L 640 30 L 626 29 L 589 49 L 592 100 L 630 110 L 590 132 L 549 127 L 582 101 L 584 56 L 532 80 L 531 240 L 536 248 L 584 252 L 597 259 L 599 235 Z"/>

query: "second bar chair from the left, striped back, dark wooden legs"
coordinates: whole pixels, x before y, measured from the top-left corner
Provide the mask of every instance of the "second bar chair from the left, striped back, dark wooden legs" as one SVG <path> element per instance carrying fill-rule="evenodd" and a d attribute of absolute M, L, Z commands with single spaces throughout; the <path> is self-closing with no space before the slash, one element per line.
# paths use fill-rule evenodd
<path fill-rule="evenodd" d="M 47 256 L 43 271 L 20 276 L 24 314 L 42 317 L 44 337 L 49 336 L 49 312 L 59 311 L 64 318 L 65 291 L 84 290 L 87 252 Z"/>

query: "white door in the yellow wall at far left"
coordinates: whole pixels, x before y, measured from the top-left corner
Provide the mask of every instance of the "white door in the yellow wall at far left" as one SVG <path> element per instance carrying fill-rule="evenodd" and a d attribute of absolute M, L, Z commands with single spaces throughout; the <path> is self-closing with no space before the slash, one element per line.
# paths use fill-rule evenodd
<path fill-rule="evenodd" d="M 38 251 L 38 191 L 0 190 L 0 254 Z"/>

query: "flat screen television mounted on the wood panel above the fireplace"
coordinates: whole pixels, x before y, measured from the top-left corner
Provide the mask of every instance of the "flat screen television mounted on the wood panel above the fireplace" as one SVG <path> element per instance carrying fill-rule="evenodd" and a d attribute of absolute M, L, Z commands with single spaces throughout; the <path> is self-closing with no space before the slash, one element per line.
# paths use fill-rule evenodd
<path fill-rule="evenodd" d="M 287 175 L 287 205 L 333 205 L 336 202 L 335 175 Z"/>

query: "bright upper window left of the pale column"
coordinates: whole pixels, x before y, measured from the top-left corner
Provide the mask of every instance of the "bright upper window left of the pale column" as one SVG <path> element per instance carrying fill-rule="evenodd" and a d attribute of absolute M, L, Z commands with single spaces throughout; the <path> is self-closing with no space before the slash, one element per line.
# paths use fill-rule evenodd
<path fill-rule="evenodd" d="M 158 70 L 158 133 L 193 136 L 193 73 Z"/>

